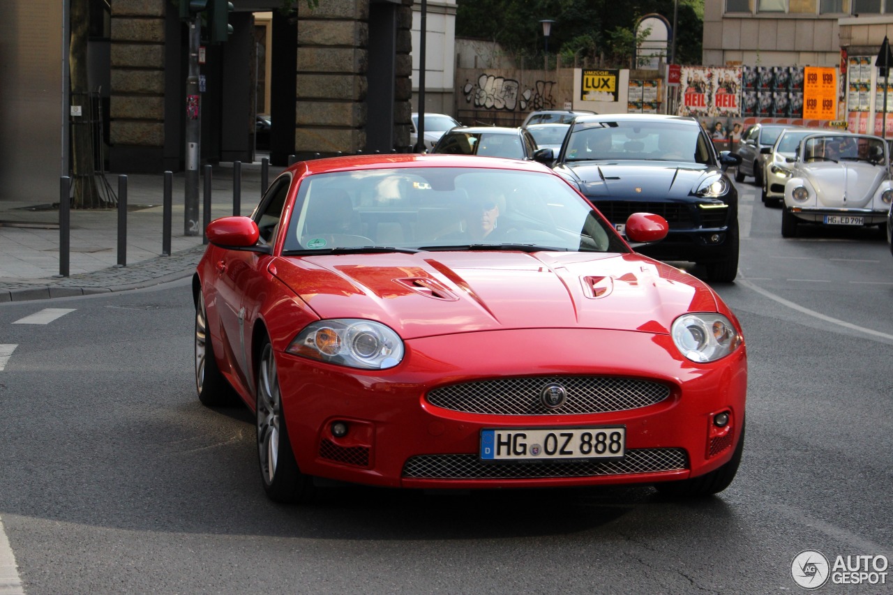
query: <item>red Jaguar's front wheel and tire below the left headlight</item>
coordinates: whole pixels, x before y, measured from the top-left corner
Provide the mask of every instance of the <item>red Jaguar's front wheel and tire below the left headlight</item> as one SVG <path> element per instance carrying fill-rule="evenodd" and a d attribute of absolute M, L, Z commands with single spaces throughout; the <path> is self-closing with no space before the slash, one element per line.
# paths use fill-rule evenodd
<path fill-rule="evenodd" d="M 275 502 L 309 499 L 313 482 L 301 473 L 288 438 L 276 357 L 270 339 L 261 348 L 257 364 L 257 455 L 263 490 Z"/>

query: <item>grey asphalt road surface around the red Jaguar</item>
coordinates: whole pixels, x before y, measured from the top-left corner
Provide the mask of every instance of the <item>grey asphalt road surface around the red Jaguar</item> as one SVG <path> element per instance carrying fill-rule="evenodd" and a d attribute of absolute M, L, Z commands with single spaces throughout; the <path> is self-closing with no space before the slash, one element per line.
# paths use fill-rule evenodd
<path fill-rule="evenodd" d="M 0 520 L 24 591 L 750 594 L 799 591 L 803 550 L 893 558 L 893 257 L 880 232 L 782 239 L 739 188 L 741 277 L 717 289 L 747 337 L 747 448 L 704 501 L 331 488 L 278 506 L 247 410 L 195 396 L 188 282 L 0 305 Z M 893 592 L 888 574 L 820 592 Z"/>

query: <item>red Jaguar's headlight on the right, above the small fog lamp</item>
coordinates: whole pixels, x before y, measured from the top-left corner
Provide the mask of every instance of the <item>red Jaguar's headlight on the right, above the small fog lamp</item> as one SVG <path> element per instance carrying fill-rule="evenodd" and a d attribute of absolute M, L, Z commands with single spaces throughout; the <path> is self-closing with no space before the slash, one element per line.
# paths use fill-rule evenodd
<path fill-rule="evenodd" d="M 693 362 L 714 362 L 741 344 L 739 331 L 722 314 L 684 314 L 670 332 L 676 348 Z"/>

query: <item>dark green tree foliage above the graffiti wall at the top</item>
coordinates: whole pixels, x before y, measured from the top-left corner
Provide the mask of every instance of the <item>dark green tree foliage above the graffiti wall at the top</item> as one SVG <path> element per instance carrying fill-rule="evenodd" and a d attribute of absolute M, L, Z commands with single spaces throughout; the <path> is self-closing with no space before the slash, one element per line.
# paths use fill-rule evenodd
<path fill-rule="evenodd" d="M 628 66 L 639 17 L 661 14 L 673 21 L 676 0 L 457 0 L 456 37 L 494 41 L 518 57 L 544 49 L 539 21 L 555 21 L 549 52 L 604 58 Z M 678 0 L 677 63 L 701 63 L 704 0 Z"/>

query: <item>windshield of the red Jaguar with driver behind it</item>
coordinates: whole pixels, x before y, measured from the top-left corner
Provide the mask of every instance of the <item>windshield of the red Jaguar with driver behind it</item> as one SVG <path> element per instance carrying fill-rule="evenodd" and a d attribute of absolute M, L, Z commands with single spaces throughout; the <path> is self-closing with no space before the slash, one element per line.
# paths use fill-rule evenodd
<path fill-rule="evenodd" d="M 554 175 L 453 167 L 309 176 L 298 189 L 284 248 L 472 246 L 629 251 L 611 225 Z"/>

